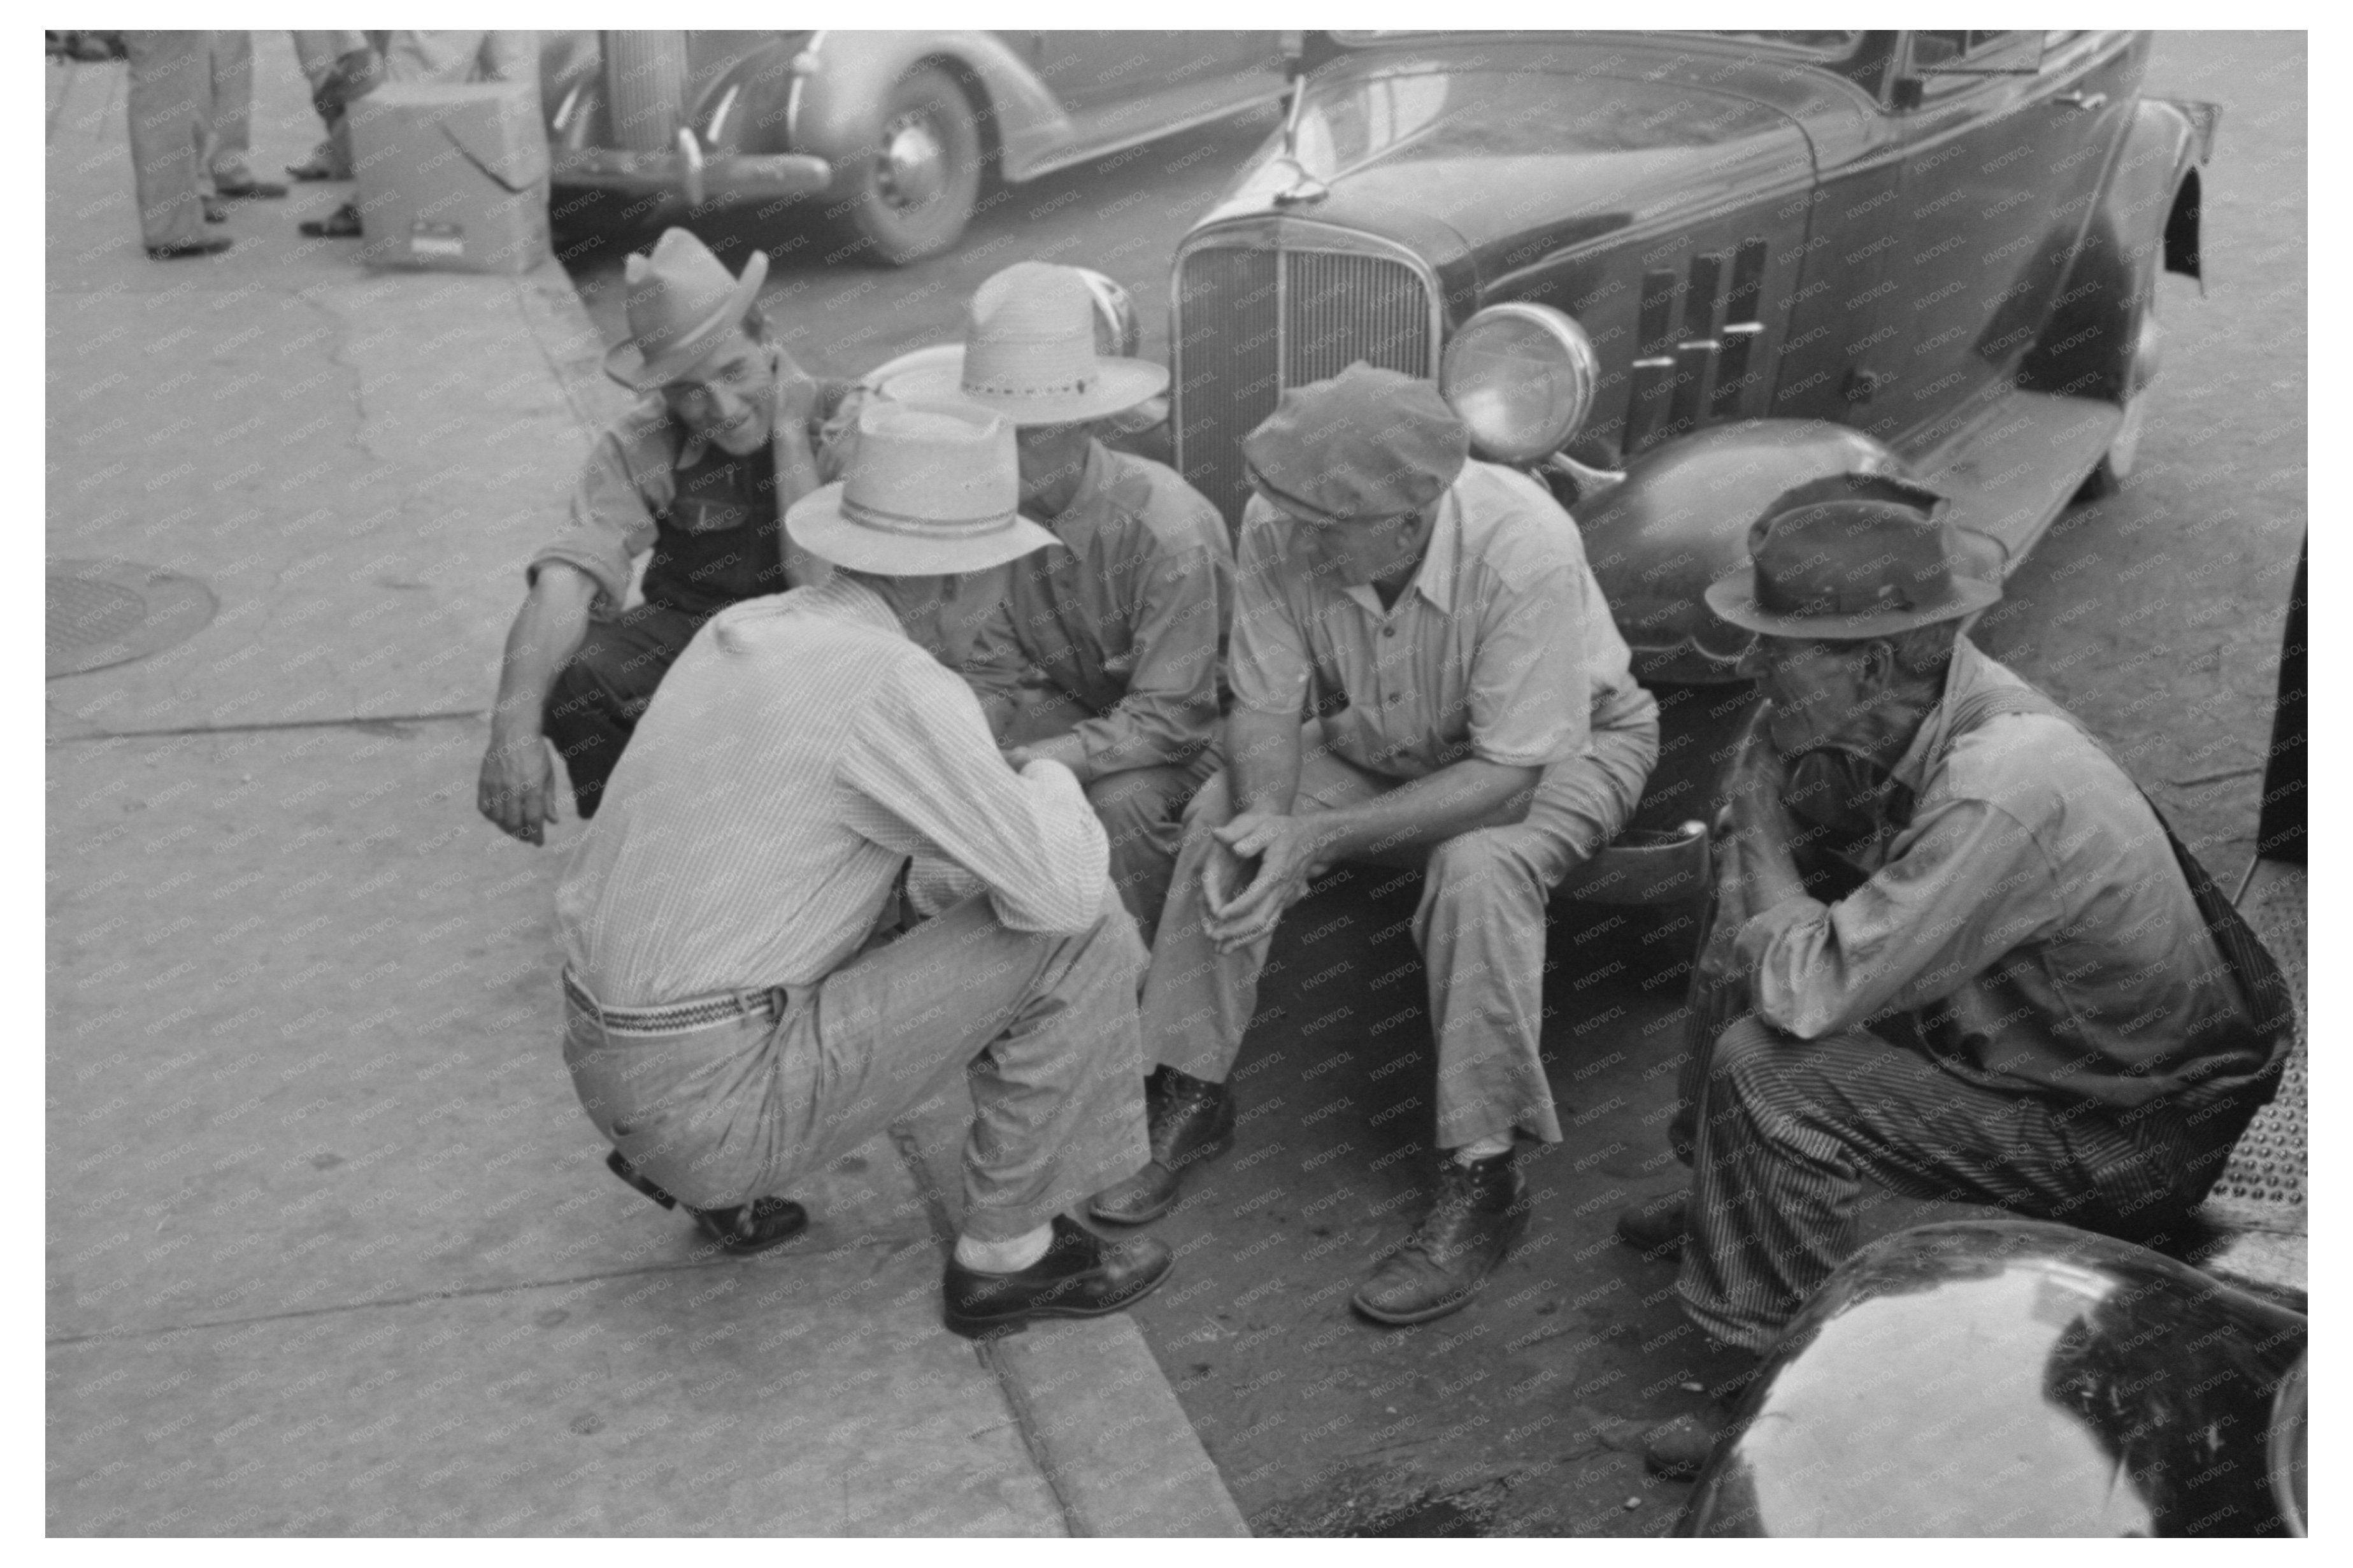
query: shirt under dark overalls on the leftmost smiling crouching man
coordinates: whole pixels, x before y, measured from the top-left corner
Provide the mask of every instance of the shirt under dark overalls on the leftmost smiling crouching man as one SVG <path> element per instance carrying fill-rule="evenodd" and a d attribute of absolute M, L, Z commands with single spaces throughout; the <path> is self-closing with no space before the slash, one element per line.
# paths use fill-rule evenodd
<path fill-rule="evenodd" d="M 856 396 L 847 384 L 819 381 L 776 351 L 776 421 L 769 431 L 779 516 L 840 478 L 847 454 L 842 431 L 854 414 Z M 635 407 L 595 438 L 588 466 L 572 485 L 572 520 L 562 534 L 539 546 L 527 577 L 539 577 L 548 560 L 562 560 L 595 582 L 598 612 L 616 612 L 628 596 L 631 565 L 654 549 L 661 518 L 678 499 L 678 471 L 692 469 L 704 452 L 706 443 L 671 419 L 661 393 L 638 398 Z"/>

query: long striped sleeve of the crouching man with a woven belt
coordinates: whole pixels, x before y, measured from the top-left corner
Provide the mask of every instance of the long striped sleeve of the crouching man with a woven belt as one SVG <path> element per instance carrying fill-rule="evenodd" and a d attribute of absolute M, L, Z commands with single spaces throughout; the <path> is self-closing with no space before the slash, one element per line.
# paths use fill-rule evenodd
<path fill-rule="evenodd" d="M 962 680 L 911 664 L 882 683 L 842 753 L 845 786 L 880 808 L 868 836 L 918 862 L 953 862 L 1012 930 L 1080 932 L 1108 888 L 1108 843 L 1068 768 L 1014 775 Z"/>

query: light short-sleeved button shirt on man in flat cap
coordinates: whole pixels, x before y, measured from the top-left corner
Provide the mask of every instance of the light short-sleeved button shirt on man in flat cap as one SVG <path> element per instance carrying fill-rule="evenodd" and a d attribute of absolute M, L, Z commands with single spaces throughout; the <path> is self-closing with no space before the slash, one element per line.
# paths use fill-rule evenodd
<path fill-rule="evenodd" d="M 1315 572 L 1306 532 L 1264 497 L 1242 511 L 1235 704 L 1318 711 L 1334 756 L 1395 779 L 1544 768 L 1647 713 L 1577 523 L 1525 473 L 1464 464 L 1393 610 Z"/>

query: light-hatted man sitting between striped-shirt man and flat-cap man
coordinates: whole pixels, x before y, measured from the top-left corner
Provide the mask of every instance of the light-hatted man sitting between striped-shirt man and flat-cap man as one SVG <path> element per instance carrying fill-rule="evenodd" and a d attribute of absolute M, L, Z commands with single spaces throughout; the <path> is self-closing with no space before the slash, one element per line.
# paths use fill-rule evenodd
<path fill-rule="evenodd" d="M 1085 273 L 1019 261 L 972 294 L 960 356 L 878 391 L 962 398 L 1016 426 L 1021 506 L 1066 549 L 1009 570 L 962 669 L 1014 756 L 1054 758 L 1085 784 L 1113 883 L 1151 942 L 1176 815 L 1217 772 L 1233 546 L 1172 469 L 1099 440 L 1160 398 L 1167 370 L 1096 353 L 1094 318 Z"/>

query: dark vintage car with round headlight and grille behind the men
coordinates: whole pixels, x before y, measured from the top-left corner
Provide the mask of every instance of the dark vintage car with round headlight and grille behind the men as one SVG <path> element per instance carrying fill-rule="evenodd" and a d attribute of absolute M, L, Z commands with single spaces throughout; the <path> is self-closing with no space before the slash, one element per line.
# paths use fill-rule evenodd
<path fill-rule="evenodd" d="M 1748 636 L 1701 589 L 1838 471 L 1953 497 L 1988 572 L 2122 483 L 2158 268 L 2198 275 L 2217 111 L 2139 33 L 1337 33 L 1181 240 L 1174 461 L 1240 520 L 1282 388 L 1435 377 L 1541 473 L 1661 697 L 1593 899 L 1692 897 Z"/>

